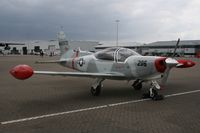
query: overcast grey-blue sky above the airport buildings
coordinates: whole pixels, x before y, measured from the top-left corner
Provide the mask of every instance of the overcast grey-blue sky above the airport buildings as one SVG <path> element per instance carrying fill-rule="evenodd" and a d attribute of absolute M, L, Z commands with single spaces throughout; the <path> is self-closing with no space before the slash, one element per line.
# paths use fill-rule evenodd
<path fill-rule="evenodd" d="M 200 39 L 199 0 L 0 0 L 0 40 Z"/>

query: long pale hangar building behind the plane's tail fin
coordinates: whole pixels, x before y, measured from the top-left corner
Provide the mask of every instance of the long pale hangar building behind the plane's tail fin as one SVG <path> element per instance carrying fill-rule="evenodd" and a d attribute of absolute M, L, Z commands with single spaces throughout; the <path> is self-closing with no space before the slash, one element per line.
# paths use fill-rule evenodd
<path fill-rule="evenodd" d="M 96 41 L 68 41 L 72 48 L 80 47 L 81 50 L 95 51 L 95 46 L 99 44 Z M 46 55 L 60 54 L 60 49 L 57 40 L 43 41 L 7 41 L 0 43 L 0 51 L 5 54 L 39 54 L 42 50 Z"/>

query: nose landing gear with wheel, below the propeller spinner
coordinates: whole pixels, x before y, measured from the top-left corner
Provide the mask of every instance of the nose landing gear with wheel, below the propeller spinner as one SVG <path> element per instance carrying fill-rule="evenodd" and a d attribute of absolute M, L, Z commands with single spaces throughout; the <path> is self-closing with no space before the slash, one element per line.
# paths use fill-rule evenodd
<path fill-rule="evenodd" d="M 143 94 L 143 98 L 152 98 L 152 100 L 163 100 L 164 96 L 159 95 L 157 90 L 160 89 L 159 84 L 156 81 L 151 81 L 151 87 L 148 93 Z"/>

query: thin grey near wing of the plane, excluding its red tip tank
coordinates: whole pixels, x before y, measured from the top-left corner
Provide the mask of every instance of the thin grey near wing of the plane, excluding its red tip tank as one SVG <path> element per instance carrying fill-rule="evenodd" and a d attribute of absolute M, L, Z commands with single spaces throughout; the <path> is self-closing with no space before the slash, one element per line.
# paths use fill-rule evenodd
<path fill-rule="evenodd" d="M 87 72 L 54 72 L 54 71 L 34 71 L 34 74 L 51 75 L 51 76 L 72 76 L 72 77 L 88 77 L 88 78 L 105 78 L 122 79 L 125 75 L 121 73 L 87 73 Z"/>

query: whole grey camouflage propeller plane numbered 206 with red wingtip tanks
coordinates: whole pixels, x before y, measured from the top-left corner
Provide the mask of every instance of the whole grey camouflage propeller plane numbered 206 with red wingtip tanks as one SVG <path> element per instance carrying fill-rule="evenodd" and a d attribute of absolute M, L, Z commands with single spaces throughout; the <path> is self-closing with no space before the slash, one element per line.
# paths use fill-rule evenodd
<path fill-rule="evenodd" d="M 132 86 L 136 90 L 140 90 L 144 82 L 151 82 L 149 91 L 144 94 L 144 97 L 161 100 L 163 96 L 157 92 L 161 86 L 156 80 L 161 79 L 161 85 L 164 85 L 171 68 L 188 68 L 195 65 L 191 60 L 142 56 L 131 49 L 122 47 L 111 47 L 96 53 L 81 51 L 80 49 L 73 50 L 65 39 L 64 32 L 58 33 L 58 40 L 61 50 L 60 60 L 38 63 L 59 63 L 79 72 L 34 71 L 28 65 L 18 65 L 12 68 L 10 73 L 21 80 L 27 79 L 33 74 L 94 78 L 95 82 L 91 86 L 91 93 L 94 96 L 100 94 L 102 82 L 105 79 L 133 80 Z"/>

